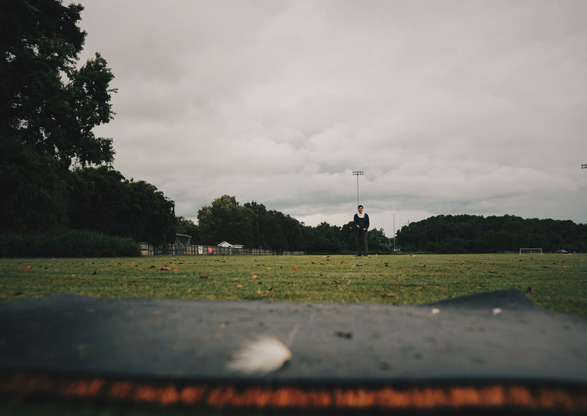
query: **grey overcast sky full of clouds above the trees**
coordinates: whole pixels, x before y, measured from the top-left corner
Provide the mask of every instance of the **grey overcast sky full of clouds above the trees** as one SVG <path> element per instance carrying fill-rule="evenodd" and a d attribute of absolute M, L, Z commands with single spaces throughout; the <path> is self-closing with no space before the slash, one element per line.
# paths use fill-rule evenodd
<path fill-rule="evenodd" d="M 307 225 L 359 202 L 587 223 L 584 0 L 77 0 L 118 89 L 114 169 Z M 65 0 L 64 4 L 69 1 Z"/>

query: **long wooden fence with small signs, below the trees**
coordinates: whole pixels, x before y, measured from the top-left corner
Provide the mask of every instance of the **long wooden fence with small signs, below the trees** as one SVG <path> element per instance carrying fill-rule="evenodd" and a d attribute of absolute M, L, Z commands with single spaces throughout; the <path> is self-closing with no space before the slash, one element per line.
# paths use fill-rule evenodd
<path fill-rule="evenodd" d="M 278 251 L 268 249 L 235 249 L 234 247 L 200 246 L 197 244 L 139 243 L 143 256 L 231 256 L 252 254 L 259 256 L 302 256 L 305 251 Z"/>

